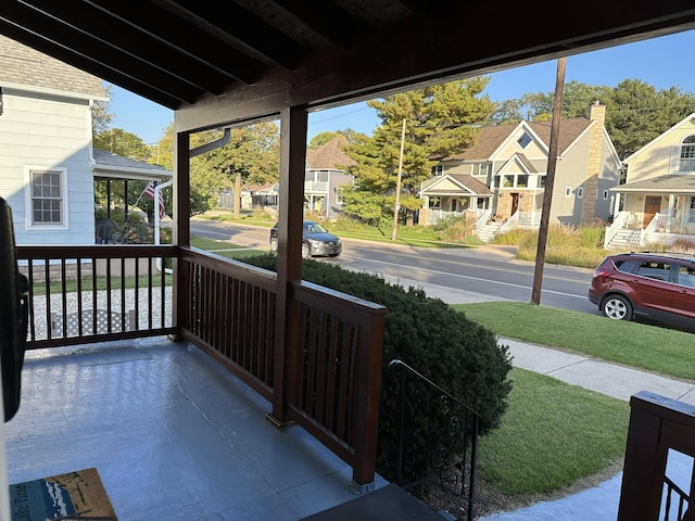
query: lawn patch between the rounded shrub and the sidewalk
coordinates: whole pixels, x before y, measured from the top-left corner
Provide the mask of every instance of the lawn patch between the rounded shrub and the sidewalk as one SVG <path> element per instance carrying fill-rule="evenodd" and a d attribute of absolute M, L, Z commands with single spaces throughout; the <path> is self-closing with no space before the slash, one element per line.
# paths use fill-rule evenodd
<path fill-rule="evenodd" d="M 624 455 L 630 407 L 593 391 L 514 368 L 500 429 L 480 440 L 478 470 L 501 494 L 543 494 Z"/>

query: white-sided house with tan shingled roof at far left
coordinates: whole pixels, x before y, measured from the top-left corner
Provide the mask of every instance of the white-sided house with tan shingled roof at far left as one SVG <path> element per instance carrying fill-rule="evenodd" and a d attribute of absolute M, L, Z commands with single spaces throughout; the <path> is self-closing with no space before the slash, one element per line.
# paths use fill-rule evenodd
<path fill-rule="evenodd" d="M 94 178 L 172 176 L 92 153 L 92 103 L 106 100 L 101 79 L 0 36 L 0 196 L 17 244 L 93 244 Z"/>

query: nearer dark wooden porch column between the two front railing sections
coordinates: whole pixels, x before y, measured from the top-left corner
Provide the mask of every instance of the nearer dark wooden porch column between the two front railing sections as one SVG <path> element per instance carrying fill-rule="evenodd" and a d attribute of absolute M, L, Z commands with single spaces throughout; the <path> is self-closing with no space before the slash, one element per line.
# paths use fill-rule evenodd
<path fill-rule="evenodd" d="M 299 363 L 299 303 L 291 284 L 302 279 L 302 221 L 307 113 L 304 106 L 280 112 L 280 187 L 275 317 L 273 412 L 278 427 L 288 423 L 288 407 L 295 399 Z"/>

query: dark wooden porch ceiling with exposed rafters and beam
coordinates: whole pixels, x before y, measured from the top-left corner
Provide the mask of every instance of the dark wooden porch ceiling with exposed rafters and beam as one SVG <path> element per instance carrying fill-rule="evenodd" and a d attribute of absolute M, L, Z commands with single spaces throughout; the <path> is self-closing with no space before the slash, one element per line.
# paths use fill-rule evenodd
<path fill-rule="evenodd" d="M 492 27 L 505 30 L 495 35 Z M 180 111 L 179 130 L 372 98 L 693 27 L 695 7 L 687 0 L 637 0 L 630 9 L 585 0 L 582 14 L 568 17 L 543 2 L 501 0 L 0 4 L 0 33 Z"/>

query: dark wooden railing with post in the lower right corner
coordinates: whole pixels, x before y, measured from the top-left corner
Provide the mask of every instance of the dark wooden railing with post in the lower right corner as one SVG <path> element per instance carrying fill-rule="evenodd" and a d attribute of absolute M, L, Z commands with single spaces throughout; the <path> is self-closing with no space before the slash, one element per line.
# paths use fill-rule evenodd
<path fill-rule="evenodd" d="M 667 475 L 669 450 L 695 457 L 695 407 L 645 391 L 630 407 L 618 521 L 695 520 L 695 466 L 690 491 Z"/>

